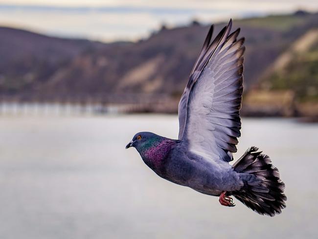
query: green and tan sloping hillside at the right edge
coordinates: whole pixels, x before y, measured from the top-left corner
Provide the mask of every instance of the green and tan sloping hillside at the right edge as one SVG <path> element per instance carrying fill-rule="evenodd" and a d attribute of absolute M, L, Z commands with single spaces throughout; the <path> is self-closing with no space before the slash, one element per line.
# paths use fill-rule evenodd
<path fill-rule="evenodd" d="M 274 62 L 261 82 L 268 90 L 293 90 L 299 102 L 318 101 L 318 29 L 310 30 Z"/>

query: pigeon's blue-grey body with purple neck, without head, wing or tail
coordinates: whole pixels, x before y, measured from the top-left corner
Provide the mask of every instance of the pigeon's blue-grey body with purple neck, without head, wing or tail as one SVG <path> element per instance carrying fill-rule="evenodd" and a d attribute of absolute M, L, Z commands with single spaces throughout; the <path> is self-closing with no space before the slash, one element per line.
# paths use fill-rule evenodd
<path fill-rule="evenodd" d="M 237 172 L 226 162 L 208 161 L 187 150 L 182 141 L 158 136 L 158 143 L 140 152 L 145 164 L 160 177 L 204 194 L 218 196 L 243 186 Z"/>

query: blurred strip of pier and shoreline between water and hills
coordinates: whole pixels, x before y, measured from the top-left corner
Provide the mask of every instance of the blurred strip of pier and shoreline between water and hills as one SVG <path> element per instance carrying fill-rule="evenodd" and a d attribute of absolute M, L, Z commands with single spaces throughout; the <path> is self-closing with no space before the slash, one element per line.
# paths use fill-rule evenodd
<path fill-rule="evenodd" d="M 314 104 L 313 104 L 314 105 Z M 307 103 L 306 108 L 313 109 Z M 304 108 L 303 108 L 304 109 Z M 288 114 L 286 114 L 286 112 Z M 318 122 L 318 113 L 306 110 L 300 111 L 280 109 L 276 106 L 264 105 L 250 107 L 243 104 L 240 116 L 244 118 L 295 118 L 299 122 Z M 102 103 L 70 103 L 70 102 L 0 102 L 0 116 L 68 116 L 68 115 L 133 115 L 133 114 L 163 114 L 177 115 L 177 102 L 157 104 L 102 104 Z"/>

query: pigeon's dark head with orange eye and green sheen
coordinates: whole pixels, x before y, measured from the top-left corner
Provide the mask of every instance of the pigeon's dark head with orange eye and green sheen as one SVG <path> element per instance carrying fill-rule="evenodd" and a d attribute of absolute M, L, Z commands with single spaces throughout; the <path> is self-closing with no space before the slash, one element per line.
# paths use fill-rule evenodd
<path fill-rule="evenodd" d="M 140 153 L 143 150 L 146 150 L 156 143 L 160 142 L 162 137 L 151 132 L 139 132 L 134 138 L 126 145 L 126 148 L 135 147 Z"/>

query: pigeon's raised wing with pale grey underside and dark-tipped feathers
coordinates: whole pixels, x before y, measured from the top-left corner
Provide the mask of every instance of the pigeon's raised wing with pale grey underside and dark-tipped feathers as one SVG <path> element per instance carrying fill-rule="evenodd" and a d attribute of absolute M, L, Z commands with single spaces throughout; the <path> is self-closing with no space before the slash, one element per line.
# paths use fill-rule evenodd
<path fill-rule="evenodd" d="M 179 139 L 204 158 L 232 160 L 240 137 L 244 38 L 232 21 L 211 42 L 210 28 L 179 103 Z"/>

